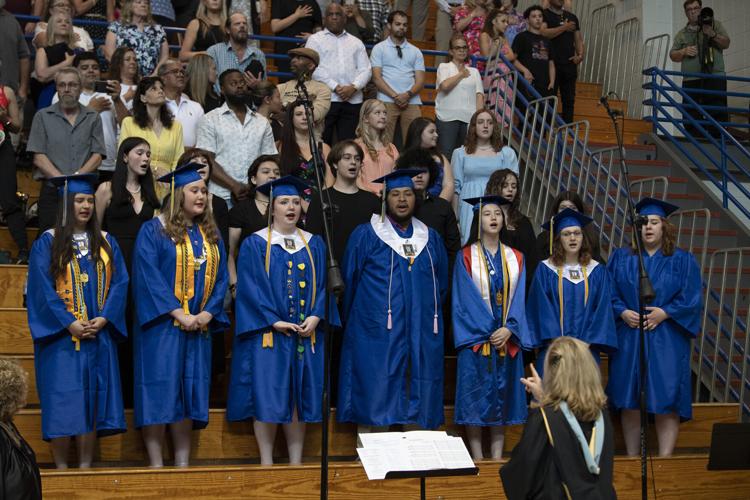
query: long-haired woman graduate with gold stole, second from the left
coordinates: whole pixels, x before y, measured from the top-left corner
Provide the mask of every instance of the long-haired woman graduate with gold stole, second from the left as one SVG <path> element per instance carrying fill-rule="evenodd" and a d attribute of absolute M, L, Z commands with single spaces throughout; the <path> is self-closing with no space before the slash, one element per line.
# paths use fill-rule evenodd
<path fill-rule="evenodd" d="M 159 179 L 174 194 L 143 224 L 133 252 L 135 425 L 152 467 L 163 465 L 166 424 L 175 465 L 188 465 L 191 430 L 208 424 L 211 334 L 229 326 L 226 253 L 201 167 L 191 163 Z"/>

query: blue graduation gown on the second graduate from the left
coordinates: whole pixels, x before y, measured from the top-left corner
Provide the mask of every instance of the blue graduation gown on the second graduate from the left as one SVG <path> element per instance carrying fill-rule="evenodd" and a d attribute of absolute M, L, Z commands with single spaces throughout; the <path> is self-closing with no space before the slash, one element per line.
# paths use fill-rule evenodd
<path fill-rule="evenodd" d="M 194 255 L 200 255 L 203 238 L 191 229 Z M 197 241 L 197 244 L 195 243 Z M 186 418 L 193 428 L 208 424 L 211 385 L 211 333 L 229 326 L 224 312 L 227 274 L 224 244 L 219 241 L 216 284 L 203 310 L 213 315 L 208 332 L 185 332 L 169 314 L 181 307 L 174 294 L 176 245 L 164 232 L 159 218 L 141 226 L 133 251 L 133 299 L 136 321 L 133 331 L 135 425 L 169 424 Z M 205 263 L 195 273 L 191 314 L 201 312 Z"/>

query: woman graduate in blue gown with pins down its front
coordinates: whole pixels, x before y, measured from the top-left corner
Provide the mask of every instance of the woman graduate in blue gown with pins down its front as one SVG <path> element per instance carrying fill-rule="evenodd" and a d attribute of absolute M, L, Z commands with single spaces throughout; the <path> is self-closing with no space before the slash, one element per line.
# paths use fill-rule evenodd
<path fill-rule="evenodd" d="M 242 242 L 227 419 L 254 419 L 263 465 L 273 464 L 278 424 L 289 462 L 302 462 L 305 424 L 322 420 L 323 321 L 338 325 L 335 302 L 326 314 L 326 247 L 297 227 L 308 186 L 286 176 L 262 186 L 269 225 Z"/>

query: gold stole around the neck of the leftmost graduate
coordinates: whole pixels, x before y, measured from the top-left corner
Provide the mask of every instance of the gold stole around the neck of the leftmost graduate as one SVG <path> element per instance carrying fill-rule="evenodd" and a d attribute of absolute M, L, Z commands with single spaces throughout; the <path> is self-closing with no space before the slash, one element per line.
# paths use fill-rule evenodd
<path fill-rule="evenodd" d="M 86 299 L 83 293 L 83 285 L 88 283 L 89 275 L 81 273 L 78 258 L 73 256 L 70 263 L 65 267 L 62 276 L 55 280 L 55 291 L 65 304 L 65 308 L 78 321 L 88 321 L 89 314 L 86 308 Z M 112 261 L 104 248 L 99 248 L 99 259 L 96 261 L 96 303 L 102 310 L 107 300 L 109 285 L 112 282 Z M 71 335 L 76 345 L 76 351 L 81 350 L 80 339 Z"/>

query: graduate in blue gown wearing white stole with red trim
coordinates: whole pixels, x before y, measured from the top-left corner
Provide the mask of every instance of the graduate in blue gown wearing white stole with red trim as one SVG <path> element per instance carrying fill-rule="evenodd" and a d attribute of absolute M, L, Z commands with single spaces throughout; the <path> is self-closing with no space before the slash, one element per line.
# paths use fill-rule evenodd
<path fill-rule="evenodd" d="M 474 460 L 482 460 L 482 428 L 490 427 L 491 457 L 502 458 L 506 425 L 526 421 L 521 384 L 526 327 L 526 271 L 521 252 L 500 243 L 499 196 L 464 200 L 479 214 L 453 268 L 453 338 L 458 352 L 455 422 L 466 426 Z"/>

